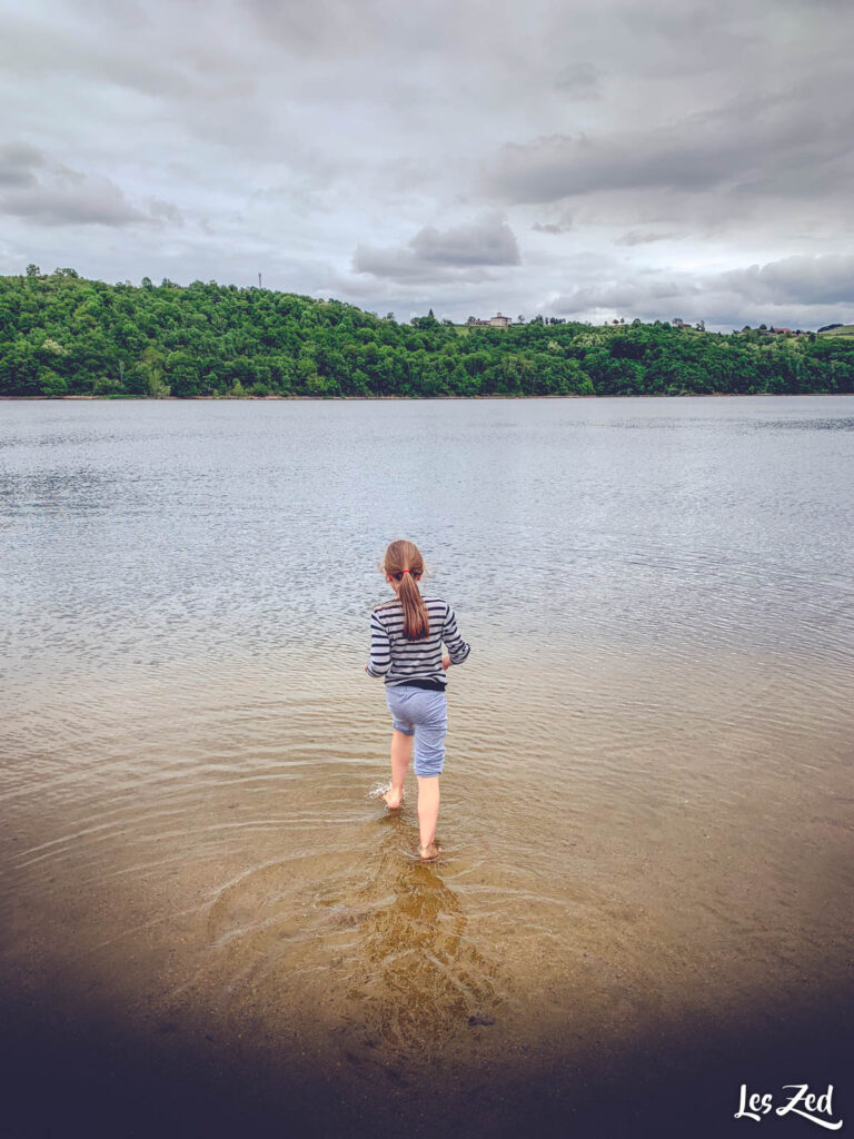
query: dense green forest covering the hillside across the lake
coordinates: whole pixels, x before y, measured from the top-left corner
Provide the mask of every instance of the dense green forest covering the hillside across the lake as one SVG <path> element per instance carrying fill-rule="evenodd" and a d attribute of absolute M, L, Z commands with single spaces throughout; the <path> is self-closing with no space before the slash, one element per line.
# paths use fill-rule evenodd
<path fill-rule="evenodd" d="M 683 395 L 854 391 L 854 337 L 655 321 L 399 323 L 338 301 L 73 269 L 0 277 L 0 395 Z"/>

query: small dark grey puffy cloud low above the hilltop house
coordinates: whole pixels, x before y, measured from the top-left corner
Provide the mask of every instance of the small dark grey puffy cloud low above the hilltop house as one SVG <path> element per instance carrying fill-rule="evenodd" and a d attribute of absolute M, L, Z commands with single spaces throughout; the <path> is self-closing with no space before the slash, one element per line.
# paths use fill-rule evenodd
<path fill-rule="evenodd" d="M 449 276 L 481 279 L 486 268 L 520 262 L 516 236 L 507 222 L 486 219 L 444 231 L 425 226 L 404 247 L 359 245 L 353 269 L 389 280 L 428 281 Z"/>

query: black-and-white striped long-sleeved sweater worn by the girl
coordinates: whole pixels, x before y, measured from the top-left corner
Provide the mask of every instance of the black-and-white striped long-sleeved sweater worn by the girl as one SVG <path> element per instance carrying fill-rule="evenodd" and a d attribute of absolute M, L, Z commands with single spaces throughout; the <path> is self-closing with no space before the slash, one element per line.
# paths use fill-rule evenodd
<path fill-rule="evenodd" d="M 371 613 L 371 655 L 367 671 L 371 677 L 385 677 L 387 685 L 407 685 L 444 689 L 447 683 L 442 667 L 442 642 L 447 646 L 452 664 L 462 664 L 470 653 L 460 637 L 453 609 L 437 597 L 425 597 L 429 614 L 429 634 L 420 641 L 403 636 L 403 606 L 395 598 L 378 605 Z"/>

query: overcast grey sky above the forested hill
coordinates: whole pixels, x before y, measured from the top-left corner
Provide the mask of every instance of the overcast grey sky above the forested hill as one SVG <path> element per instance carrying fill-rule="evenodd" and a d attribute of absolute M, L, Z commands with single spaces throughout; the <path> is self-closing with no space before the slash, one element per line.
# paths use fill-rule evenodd
<path fill-rule="evenodd" d="M 854 321 L 849 0 L 0 0 L 0 273 Z"/>

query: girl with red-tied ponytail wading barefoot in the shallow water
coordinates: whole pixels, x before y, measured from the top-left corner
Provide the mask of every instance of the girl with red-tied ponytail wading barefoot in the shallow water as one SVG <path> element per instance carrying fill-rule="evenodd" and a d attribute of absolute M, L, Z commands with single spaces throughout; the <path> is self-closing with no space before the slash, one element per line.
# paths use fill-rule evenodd
<path fill-rule="evenodd" d="M 470 649 L 460 637 L 453 609 L 440 598 L 422 598 L 418 582 L 424 558 L 412 542 L 397 541 L 386 550 L 386 581 L 393 601 L 371 613 L 371 655 L 364 671 L 385 677 L 392 713 L 392 786 L 383 795 L 389 811 L 403 802 L 403 779 L 412 759 L 418 777 L 418 853 L 424 861 L 438 855 L 438 777 L 445 762 L 447 704 L 445 673 L 462 664 Z M 442 642 L 447 653 L 442 655 Z"/>

